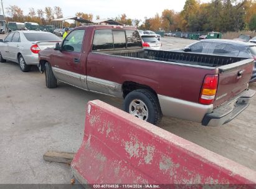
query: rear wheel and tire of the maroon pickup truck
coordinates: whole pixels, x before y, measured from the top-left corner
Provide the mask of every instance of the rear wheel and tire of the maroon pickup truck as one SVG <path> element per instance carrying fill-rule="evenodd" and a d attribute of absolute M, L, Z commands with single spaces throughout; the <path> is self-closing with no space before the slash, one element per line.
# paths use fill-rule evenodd
<path fill-rule="evenodd" d="M 157 96 L 149 90 L 134 90 L 128 93 L 123 109 L 154 125 L 158 125 L 163 116 Z"/>

